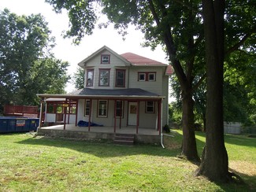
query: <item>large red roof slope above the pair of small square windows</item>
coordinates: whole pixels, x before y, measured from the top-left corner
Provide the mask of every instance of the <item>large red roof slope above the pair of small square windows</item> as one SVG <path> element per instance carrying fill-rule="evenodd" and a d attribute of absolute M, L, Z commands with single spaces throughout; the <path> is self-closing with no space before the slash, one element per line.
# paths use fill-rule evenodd
<path fill-rule="evenodd" d="M 129 61 L 132 65 L 161 65 L 165 66 L 166 64 L 161 63 L 159 61 L 154 61 L 147 57 L 143 57 L 137 54 L 125 53 L 121 54 L 127 61 Z"/>

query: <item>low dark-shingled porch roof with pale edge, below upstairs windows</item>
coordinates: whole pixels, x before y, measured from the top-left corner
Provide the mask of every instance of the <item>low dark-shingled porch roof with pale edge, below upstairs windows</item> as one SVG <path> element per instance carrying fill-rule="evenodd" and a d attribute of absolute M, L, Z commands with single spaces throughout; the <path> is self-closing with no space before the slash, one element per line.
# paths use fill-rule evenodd
<path fill-rule="evenodd" d="M 125 99 L 160 99 L 158 94 L 139 88 L 128 89 L 91 89 L 83 88 L 69 94 L 37 94 L 40 98 L 125 98 Z"/>

